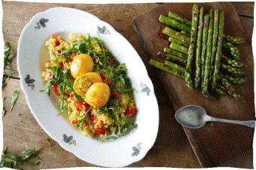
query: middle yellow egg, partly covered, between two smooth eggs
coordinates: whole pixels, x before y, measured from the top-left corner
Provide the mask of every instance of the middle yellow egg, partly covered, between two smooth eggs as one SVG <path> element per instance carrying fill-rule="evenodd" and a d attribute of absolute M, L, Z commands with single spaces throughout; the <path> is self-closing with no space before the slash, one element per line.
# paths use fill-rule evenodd
<path fill-rule="evenodd" d="M 75 79 L 73 89 L 81 97 L 85 97 L 87 90 L 93 83 L 102 82 L 102 78 L 96 72 L 82 74 Z"/>

